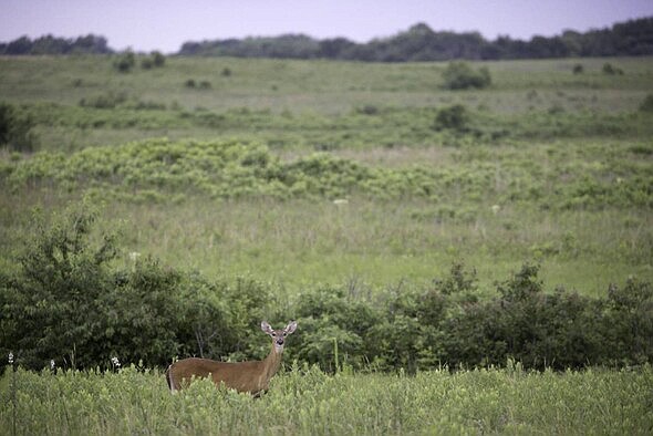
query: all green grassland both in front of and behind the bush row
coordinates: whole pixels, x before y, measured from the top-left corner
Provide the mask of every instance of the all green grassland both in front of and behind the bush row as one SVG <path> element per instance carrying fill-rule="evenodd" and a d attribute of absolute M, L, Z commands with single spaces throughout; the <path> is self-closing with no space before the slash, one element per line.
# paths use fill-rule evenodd
<path fill-rule="evenodd" d="M 41 152 L 0 150 L 0 269 L 18 268 L 32 209 L 54 220 L 86 198 L 96 233 L 121 233 L 123 266 L 139 252 L 246 274 L 280 302 L 324 283 L 363 298 L 426 289 L 460 260 L 493 297 L 530 260 L 546 291 L 653 281 L 653 122 L 638 112 L 653 60 L 489 62 L 493 85 L 466 92 L 442 89 L 445 66 L 174 58 L 121 74 L 103 56 L 2 58 L 2 101 L 33 117 Z M 80 105 L 120 94 L 114 108 Z M 434 128 L 453 104 L 466 128 Z M 0 428 L 15 404 L 18 434 L 653 430 L 650 366 L 435 370 L 294 367 L 259 401 L 203 383 L 173 396 L 156 371 L 19 371 L 15 386 L 6 372 Z"/>

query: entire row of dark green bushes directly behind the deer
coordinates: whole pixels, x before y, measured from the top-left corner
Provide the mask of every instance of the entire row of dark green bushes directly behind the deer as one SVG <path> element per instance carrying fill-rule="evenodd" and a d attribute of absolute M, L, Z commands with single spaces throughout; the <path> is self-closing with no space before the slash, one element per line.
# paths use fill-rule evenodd
<path fill-rule="evenodd" d="M 288 357 L 336 371 L 343 365 L 410 372 L 439 365 L 526 367 L 632 365 L 653 360 L 653 289 L 629 280 L 607 299 L 543 291 L 525 264 L 480 298 L 476 274 L 454 264 L 427 288 L 397 288 L 374 300 L 334 288 L 274 304 L 270 284 L 210 281 L 133 256 L 116 268 L 112 235 L 92 231 L 95 215 L 72 209 L 37 225 L 15 273 L 0 274 L 0 352 L 28 367 L 125 362 L 163 366 L 175 355 L 262 357 L 257 329 L 297 319 Z M 39 222 L 39 221 L 37 221 Z"/>

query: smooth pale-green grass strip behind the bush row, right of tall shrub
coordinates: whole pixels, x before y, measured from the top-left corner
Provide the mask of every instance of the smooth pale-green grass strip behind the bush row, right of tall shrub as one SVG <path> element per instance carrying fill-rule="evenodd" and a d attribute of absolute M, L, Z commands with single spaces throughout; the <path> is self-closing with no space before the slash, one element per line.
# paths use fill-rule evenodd
<path fill-rule="evenodd" d="M 524 259 L 543 263 L 551 287 L 604 295 L 630 274 L 651 278 L 652 236 L 638 211 L 491 210 L 469 222 L 434 216 L 424 203 L 193 201 L 178 206 L 112 206 L 125 218 L 131 250 L 208 276 L 251 272 L 289 291 L 309 282 L 357 278 L 383 287 L 429 281 L 456 259 L 478 269 L 481 287 Z M 601 268 L 597 268 L 597 266 Z"/>

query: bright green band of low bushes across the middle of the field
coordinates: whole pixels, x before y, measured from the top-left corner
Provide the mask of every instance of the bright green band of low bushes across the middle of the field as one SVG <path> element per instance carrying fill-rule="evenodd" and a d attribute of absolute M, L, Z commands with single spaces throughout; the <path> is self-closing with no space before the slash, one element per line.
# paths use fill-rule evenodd
<path fill-rule="evenodd" d="M 443 111 L 448 114 L 444 120 L 453 120 L 446 123 L 457 125 L 458 111 Z M 479 156 L 480 153 L 484 152 L 479 150 Z M 115 146 L 111 152 L 93 147 L 70 155 L 39 153 L 29 159 L 10 162 L 0 172 L 0 186 L 19 190 L 43 185 L 129 201 L 170 197 L 180 200 L 199 194 L 213 198 L 279 199 L 415 197 L 452 207 L 533 198 L 547 208 L 559 209 L 653 205 L 651 175 L 644 167 L 621 169 L 612 165 L 622 165 L 611 160 L 613 157 L 605 159 L 605 165 L 581 167 L 578 175 L 562 160 L 548 173 L 530 168 L 520 159 L 507 159 L 498 168 L 485 158 L 460 162 L 456 167 L 383 168 L 329 154 L 283 162 L 257 143 L 148 139 Z M 614 181 L 615 176 L 619 181 Z M 493 183 L 497 177 L 512 183 Z"/>

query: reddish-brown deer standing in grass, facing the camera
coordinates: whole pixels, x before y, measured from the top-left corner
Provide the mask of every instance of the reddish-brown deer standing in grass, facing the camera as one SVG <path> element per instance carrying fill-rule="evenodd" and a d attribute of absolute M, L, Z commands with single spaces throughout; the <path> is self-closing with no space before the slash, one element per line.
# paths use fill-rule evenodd
<path fill-rule="evenodd" d="M 296 329 L 297 321 L 291 321 L 282 330 L 273 330 L 268 322 L 262 321 L 261 330 L 272 338 L 272 349 L 265 360 L 219 362 L 199 357 L 184 359 L 168 366 L 168 387 L 175 393 L 186 387 L 193 378 L 210 377 L 218 387 L 224 384 L 226 387 L 258 397 L 268 391 L 270 380 L 279 371 L 286 338 Z"/>

